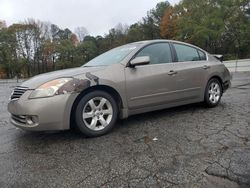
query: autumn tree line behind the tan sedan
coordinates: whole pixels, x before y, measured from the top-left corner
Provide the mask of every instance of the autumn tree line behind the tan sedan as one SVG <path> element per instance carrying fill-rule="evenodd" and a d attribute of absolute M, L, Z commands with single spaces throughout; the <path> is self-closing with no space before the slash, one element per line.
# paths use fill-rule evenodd
<path fill-rule="evenodd" d="M 137 23 L 117 24 L 96 37 L 84 27 L 72 32 L 34 19 L 8 27 L 0 21 L 0 76 L 31 77 L 77 67 L 116 46 L 160 38 L 188 42 L 226 59 L 249 58 L 250 2 L 182 0 L 172 6 L 163 1 Z"/>

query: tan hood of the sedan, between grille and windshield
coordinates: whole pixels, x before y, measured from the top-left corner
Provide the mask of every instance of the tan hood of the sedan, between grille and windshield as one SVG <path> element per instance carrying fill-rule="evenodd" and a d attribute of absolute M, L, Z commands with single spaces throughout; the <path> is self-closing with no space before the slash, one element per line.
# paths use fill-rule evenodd
<path fill-rule="evenodd" d="M 87 72 L 93 73 L 98 70 L 105 69 L 105 67 L 77 67 L 71 69 L 64 69 L 53 71 L 45 74 L 34 76 L 33 78 L 23 82 L 21 86 L 28 87 L 29 89 L 36 89 L 40 85 L 57 78 L 74 77 Z"/>

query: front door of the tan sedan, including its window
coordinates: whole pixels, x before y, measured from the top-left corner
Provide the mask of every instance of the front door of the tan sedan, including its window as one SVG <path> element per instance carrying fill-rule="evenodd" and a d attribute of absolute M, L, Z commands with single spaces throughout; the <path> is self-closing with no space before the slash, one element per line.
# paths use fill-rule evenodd
<path fill-rule="evenodd" d="M 162 105 L 176 99 L 174 63 L 167 42 L 144 47 L 135 57 L 149 56 L 150 64 L 126 67 L 126 91 L 131 110 Z"/>

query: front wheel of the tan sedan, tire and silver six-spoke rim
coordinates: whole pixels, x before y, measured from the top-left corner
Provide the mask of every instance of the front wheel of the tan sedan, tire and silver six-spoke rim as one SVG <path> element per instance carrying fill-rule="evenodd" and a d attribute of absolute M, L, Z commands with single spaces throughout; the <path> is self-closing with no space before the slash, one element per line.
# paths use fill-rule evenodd
<path fill-rule="evenodd" d="M 88 137 L 107 134 L 115 126 L 118 106 L 105 91 L 92 91 L 82 97 L 76 107 L 76 127 Z"/>

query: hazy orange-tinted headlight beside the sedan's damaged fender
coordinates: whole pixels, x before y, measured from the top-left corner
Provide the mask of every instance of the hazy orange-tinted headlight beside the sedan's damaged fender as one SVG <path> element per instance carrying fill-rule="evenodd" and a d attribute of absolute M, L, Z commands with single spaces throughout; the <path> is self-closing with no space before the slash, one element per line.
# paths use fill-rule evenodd
<path fill-rule="evenodd" d="M 39 86 L 37 89 L 35 89 L 30 94 L 29 98 L 35 99 L 35 98 L 41 98 L 41 97 L 52 97 L 54 95 L 63 94 L 61 92 L 59 93 L 58 91 L 63 85 L 65 85 L 69 81 L 72 81 L 72 78 L 60 78 L 60 79 L 49 81 Z"/>

